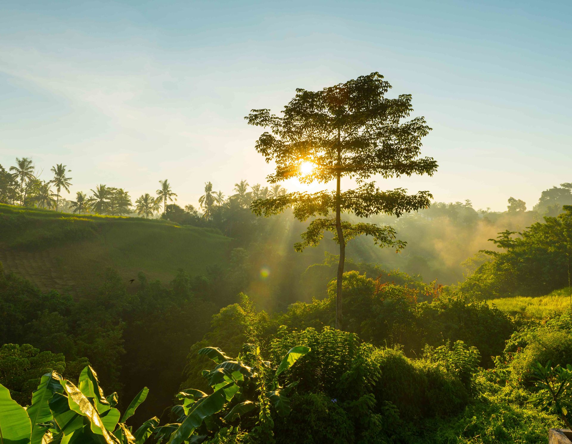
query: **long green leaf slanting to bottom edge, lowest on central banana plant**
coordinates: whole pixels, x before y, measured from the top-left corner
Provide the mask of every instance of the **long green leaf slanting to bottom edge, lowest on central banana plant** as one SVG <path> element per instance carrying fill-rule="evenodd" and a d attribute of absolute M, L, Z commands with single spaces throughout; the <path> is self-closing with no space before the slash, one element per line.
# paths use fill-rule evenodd
<path fill-rule="evenodd" d="M 223 410 L 224 405 L 229 399 L 232 399 L 237 391 L 239 391 L 239 386 L 234 383 L 227 384 L 195 402 L 188 416 L 171 435 L 168 444 L 181 444 L 188 439 L 205 418 Z"/>

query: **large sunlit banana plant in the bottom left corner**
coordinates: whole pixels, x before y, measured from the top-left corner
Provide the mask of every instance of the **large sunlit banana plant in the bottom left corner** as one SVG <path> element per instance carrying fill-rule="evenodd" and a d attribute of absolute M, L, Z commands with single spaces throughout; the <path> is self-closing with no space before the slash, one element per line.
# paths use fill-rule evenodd
<path fill-rule="evenodd" d="M 0 442 L 144 444 L 158 419 L 149 419 L 134 432 L 125 421 L 148 393 L 149 389 L 142 389 L 121 417 L 115 408 L 117 393 L 105 397 L 90 366 L 82 370 L 77 386 L 55 372 L 43 375 L 26 409 L 0 385 Z"/>

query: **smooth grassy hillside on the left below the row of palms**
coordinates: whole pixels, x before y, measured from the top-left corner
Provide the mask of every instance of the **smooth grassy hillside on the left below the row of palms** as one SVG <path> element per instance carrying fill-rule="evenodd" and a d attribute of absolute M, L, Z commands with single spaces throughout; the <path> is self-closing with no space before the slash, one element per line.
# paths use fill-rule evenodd
<path fill-rule="evenodd" d="M 73 216 L 0 204 L 0 262 L 44 290 L 101 282 L 105 269 L 126 280 L 144 272 L 169 281 L 228 261 L 229 239 L 212 229 L 137 217 Z"/>

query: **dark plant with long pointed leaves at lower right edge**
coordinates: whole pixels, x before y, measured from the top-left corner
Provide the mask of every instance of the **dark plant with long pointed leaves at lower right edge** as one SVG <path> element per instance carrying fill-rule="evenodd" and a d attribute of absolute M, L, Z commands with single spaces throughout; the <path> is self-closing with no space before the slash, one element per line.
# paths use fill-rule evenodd
<path fill-rule="evenodd" d="M 556 413 L 566 423 L 570 429 L 568 420 L 568 410 L 572 409 L 572 365 L 566 365 L 566 368 L 557 365 L 552 366 L 550 361 L 546 365 L 536 362 L 530 367 L 533 377 L 535 378 L 535 386 L 538 390 L 529 402 L 540 407 L 541 410 Z"/>

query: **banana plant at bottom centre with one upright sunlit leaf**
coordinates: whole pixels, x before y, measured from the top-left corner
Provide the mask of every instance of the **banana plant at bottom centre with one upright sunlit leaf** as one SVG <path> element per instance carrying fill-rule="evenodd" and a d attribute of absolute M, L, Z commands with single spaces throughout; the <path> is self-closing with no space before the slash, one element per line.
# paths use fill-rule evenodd
<path fill-rule="evenodd" d="M 275 369 L 268 361 L 264 361 L 265 367 L 274 372 L 270 384 L 271 390 L 265 395 L 271 400 L 279 415 L 285 416 L 289 413 L 290 402 L 287 392 L 296 383 L 283 388 L 279 384 L 278 377 L 309 351 L 308 347 L 302 345 L 292 348 Z M 156 431 L 158 443 L 201 443 L 219 430 L 231 429 L 231 423 L 259 408 L 257 402 L 247 399 L 247 397 L 256 398 L 256 390 L 250 389 L 253 386 L 256 388 L 257 379 L 261 377 L 252 366 L 247 365 L 247 361 L 252 361 L 255 354 L 260 356 L 259 348 L 245 344 L 243 354 L 236 359 L 215 347 L 198 350 L 198 354 L 208 357 L 216 364 L 212 370 L 202 370 L 202 376 L 212 387 L 213 393 L 206 394 L 196 389 L 186 389 L 178 393 L 177 398 L 182 404 L 172 409 L 178 417 L 178 422 L 158 427 Z"/>

